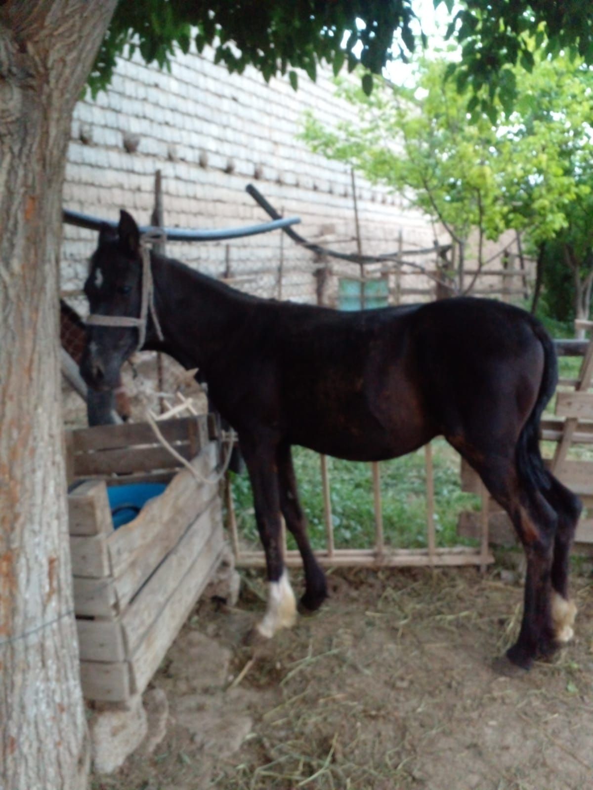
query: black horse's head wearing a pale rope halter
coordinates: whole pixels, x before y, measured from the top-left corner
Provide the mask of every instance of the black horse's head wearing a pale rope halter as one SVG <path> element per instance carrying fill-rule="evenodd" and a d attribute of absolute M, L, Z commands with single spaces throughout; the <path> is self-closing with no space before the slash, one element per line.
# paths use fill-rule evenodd
<path fill-rule="evenodd" d="M 143 276 L 140 231 L 122 211 L 116 229 L 102 226 L 85 281 L 90 315 L 81 375 L 93 389 L 117 386 L 120 367 L 144 342 Z"/>

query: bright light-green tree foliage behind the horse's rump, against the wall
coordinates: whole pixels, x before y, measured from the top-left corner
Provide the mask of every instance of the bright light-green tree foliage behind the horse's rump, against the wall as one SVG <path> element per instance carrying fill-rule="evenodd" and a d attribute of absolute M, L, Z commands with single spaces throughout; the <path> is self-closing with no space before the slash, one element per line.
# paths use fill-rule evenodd
<path fill-rule="evenodd" d="M 495 103 L 495 123 L 492 108 L 485 115 L 475 101 L 469 122 L 468 92 L 444 81 L 448 63 L 424 58 L 412 88 L 384 84 L 364 96 L 342 83 L 359 121 L 327 130 L 309 115 L 304 138 L 372 182 L 406 194 L 448 231 L 460 266 L 477 230 L 479 269 L 483 239 L 497 239 L 502 231 L 523 233 L 535 249 L 569 226 L 576 231 L 570 216 L 591 190 L 590 70 L 569 58 L 537 55 L 534 62 L 531 73 L 513 72 L 515 109 L 508 113 Z M 576 245 L 577 258 L 583 244 Z"/>

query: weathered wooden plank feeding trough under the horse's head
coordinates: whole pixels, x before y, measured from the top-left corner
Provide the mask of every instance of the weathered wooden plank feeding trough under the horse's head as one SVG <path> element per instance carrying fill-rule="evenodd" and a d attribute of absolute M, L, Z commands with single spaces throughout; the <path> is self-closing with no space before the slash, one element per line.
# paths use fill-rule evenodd
<path fill-rule="evenodd" d="M 89 700 L 142 694 L 223 550 L 217 423 L 192 416 L 159 428 L 203 482 L 147 423 L 66 434 L 74 611 Z M 108 485 L 157 481 L 168 483 L 164 493 L 114 529 Z"/>

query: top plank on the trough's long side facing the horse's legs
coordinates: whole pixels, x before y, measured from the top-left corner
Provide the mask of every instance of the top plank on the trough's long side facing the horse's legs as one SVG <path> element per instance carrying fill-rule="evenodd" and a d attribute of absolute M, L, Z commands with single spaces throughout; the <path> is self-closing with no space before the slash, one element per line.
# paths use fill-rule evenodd
<path fill-rule="evenodd" d="M 217 445 L 211 442 L 192 466 L 206 477 L 212 474 L 216 458 Z M 164 494 L 147 502 L 134 521 L 113 532 L 108 551 L 122 608 L 217 495 L 217 483 L 198 483 L 189 469 L 183 469 Z"/>

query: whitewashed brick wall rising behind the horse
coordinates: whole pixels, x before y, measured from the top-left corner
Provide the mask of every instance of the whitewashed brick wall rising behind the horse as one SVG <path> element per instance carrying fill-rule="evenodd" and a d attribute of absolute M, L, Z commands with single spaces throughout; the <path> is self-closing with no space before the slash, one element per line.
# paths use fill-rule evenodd
<path fill-rule="evenodd" d="M 316 83 L 301 74 L 299 85 L 297 92 L 287 80 L 266 85 L 253 69 L 229 75 L 224 66 L 213 64 L 211 52 L 179 54 L 171 74 L 145 66 L 139 58 L 119 62 L 108 92 L 77 104 L 64 204 L 111 219 L 125 208 L 147 223 L 154 173 L 161 169 L 168 225 L 224 228 L 267 219 L 244 191 L 253 181 L 279 210 L 300 216 L 297 230 L 306 238 L 354 251 L 348 168 L 313 154 L 296 138 L 305 109 L 328 124 L 353 118 L 353 110 L 334 96 L 327 73 L 320 72 Z M 90 131 L 89 145 L 81 141 L 81 129 Z M 136 152 L 124 149 L 124 134 L 140 135 Z M 204 156 L 206 167 L 200 164 Z M 229 160 L 234 169 L 227 173 Z M 262 171 L 257 181 L 256 167 Z M 395 250 L 400 229 L 405 247 L 432 246 L 429 223 L 402 209 L 400 198 L 360 177 L 357 197 L 365 252 Z M 95 243 L 90 231 L 64 228 L 65 292 L 81 288 Z M 225 269 L 225 243 L 169 244 L 168 253 L 213 275 Z M 278 232 L 233 241 L 229 255 L 233 275 L 264 272 L 238 287 L 276 295 Z M 315 299 L 313 266 L 311 254 L 284 239 L 284 298 Z M 77 300 L 77 307 L 84 311 L 84 300 Z"/>

